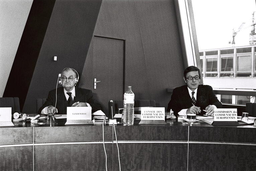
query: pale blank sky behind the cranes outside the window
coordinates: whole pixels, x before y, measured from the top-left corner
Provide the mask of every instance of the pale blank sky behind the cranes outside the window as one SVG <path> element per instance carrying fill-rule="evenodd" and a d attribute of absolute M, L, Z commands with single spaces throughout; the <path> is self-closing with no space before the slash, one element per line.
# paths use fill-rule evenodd
<path fill-rule="evenodd" d="M 235 46 L 247 46 L 252 27 L 255 0 L 192 0 L 199 50 L 232 47 L 233 29 Z M 254 13 L 256 22 L 256 12 Z"/>

